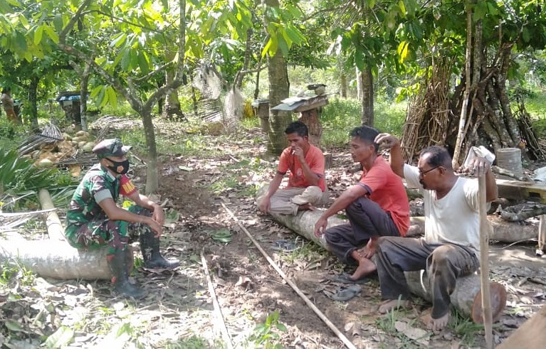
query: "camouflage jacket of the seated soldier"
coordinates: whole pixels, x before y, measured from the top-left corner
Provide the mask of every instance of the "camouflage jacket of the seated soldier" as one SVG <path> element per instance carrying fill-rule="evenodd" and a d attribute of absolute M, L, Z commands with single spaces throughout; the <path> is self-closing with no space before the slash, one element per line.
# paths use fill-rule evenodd
<path fill-rule="evenodd" d="M 66 213 L 66 230 L 77 230 L 90 220 L 105 220 L 106 213 L 97 200 L 120 196 L 121 176 L 112 176 L 100 163 L 89 169 L 76 188 Z M 107 190 L 107 191 L 106 191 Z M 102 192 L 102 193 L 101 193 Z M 99 193 L 98 197 L 96 194 Z"/>

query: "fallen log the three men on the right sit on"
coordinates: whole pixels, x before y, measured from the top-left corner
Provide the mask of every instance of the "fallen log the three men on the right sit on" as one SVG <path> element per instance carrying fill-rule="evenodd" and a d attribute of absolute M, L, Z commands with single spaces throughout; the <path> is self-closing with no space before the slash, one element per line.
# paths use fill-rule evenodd
<path fill-rule="evenodd" d="M 329 250 L 324 238 L 318 239 L 315 237 L 315 222 L 317 222 L 322 210 L 315 211 L 302 211 L 298 215 L 273 215 L 273 218 L 277 222 L 290 228 L 294 232 L 306 237 L 308 240 L 312 240 L 317 245 Z M 416 220 L 416 224 L 424 220 Z M 347 222 L 337 217 L 328 218 L 328 227 L 340 225 Z M 421 296 L 427 301 L 431 301 L 431 294 L 426 287 L 428 278 L 424 277 L 424 282 L 421 282 L 421 272 L 406 272 L 406 281 L 408 283 L 411 292 L 417 296 Z M 453 294 L 451 294 L 451 304 L 455 306 L 458 311 L 464 315 L 473 319 L 477 323 L 482 321 L 481 311 L 481 280 L 478 274 L 471 274 L 461 277 L 457 280 L 457 286 Z M 490 284 L 490 299 L 491 308 L 493 313 L 493 321 L 498 320 L 502 315 L 503 309 L 506 305 L 506 290 L 504 286 L 491 283 Z"/>

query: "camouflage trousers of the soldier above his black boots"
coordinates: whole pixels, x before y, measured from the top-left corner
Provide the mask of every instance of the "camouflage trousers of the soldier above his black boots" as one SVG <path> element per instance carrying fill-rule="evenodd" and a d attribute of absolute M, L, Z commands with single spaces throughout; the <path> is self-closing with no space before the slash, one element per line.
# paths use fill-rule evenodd
<path fill-rule="evenodd" d="M 128 211 L 137 215 L 152 216 L 152 211 L 138 205 L 127 208 Z M 144 223 L 130 223 L 126 220 L 91 220 L 81 225 L 78 229 L 67 228 L 66 240 L 71 246 L 77 249 L 96 249 L 107 245 L 107 254 L 125 251 L 127 244 L 133 237 L 151 231 L 151 228 Z"/>

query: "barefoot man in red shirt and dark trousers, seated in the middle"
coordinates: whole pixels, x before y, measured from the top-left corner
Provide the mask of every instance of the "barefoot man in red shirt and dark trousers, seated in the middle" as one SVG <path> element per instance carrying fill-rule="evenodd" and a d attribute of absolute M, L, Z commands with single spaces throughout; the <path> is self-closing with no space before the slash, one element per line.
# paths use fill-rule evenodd
<path fill-rule="evenodd" d="M 364 276 L 376 270 L 370 258 L 380 236 L 405 236 L 409 227 L 409 200 L 401 181 L 377 154 L 379 134 L 367 126 L 352 130 L 351 155 L 362 166 L 359 183 L 347 188 L 315 224 L 315 236 L 325 233 L 325 240 L 337 257 L 346 264 L 358 264 L 352 275 L 338 279 L 347 283 L 364 281 Z M 349 222 L 325 231 L 327 219 L 345 210 Z M 361 249 L 361 247 L 364 248 Z"/>

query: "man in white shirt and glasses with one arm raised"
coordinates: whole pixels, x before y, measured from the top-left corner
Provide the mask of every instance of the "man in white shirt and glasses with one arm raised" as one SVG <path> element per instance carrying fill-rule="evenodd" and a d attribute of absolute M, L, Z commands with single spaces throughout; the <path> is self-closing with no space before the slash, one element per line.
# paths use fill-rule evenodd
<path fill-rule="evenodd" d="M 450 295 L 458 276 L 479 267 L 480 217 L 478 182 L 456 176 L 451 156 L 441 146 L 421 151 L 417 167 L 404 164 L 400 142 L 390 134 L 375 140 L 390 149 L 392 171 L 406 179 L 408 188 L 419 188 L 424 198 L 425 236 L 421 239 L 380 237 L 377 273 L 385 301 L 380 313 L 409 306 L 411 293 L 404 272 L 426 269 L 431 281 L 432 311 L 429 328 L 439 331 L 449 320 Z M 490 162 L 476 157 L 463 171 L 485 173 L 486 200 L 498 195 Z"/>

